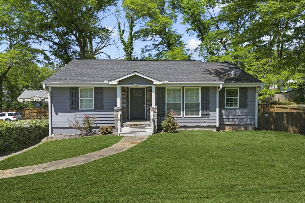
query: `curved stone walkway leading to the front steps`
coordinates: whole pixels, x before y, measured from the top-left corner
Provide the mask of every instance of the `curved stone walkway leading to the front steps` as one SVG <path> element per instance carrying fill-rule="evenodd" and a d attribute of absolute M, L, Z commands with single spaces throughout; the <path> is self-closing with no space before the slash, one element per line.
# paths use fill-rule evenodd
<path fill-rule="evenodd" d="M 118 152 L 125 151 L 126 149 L 129 149 L 137 145 L 138 143 L 142 142 L 146 138 L 148 138 L 148 136 L 124 137 L 120 142 L 96 152 L 91 152 L 88 154 L 84 154 L 81 156 L 76 156 L 68 159 L 42 163 L 34 166 L 24 166 L 15 169 L 2 170 L 0 171 L 0 179 L 62 169 L 71 166 L 77 166 L 83 163 L 88 163 L 103 158 L 105 156 L 109 156 L 112 154 L 116 154 Z"/>

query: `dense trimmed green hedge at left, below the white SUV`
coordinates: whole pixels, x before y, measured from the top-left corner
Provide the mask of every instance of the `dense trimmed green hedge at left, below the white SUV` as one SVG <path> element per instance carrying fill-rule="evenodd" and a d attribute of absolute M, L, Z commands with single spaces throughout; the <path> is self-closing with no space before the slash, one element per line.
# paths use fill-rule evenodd
<path fill-rule="evenodd" d="M 48 120 L 0 121 L 0 152 L 39 143 L 48 136 Z"/>

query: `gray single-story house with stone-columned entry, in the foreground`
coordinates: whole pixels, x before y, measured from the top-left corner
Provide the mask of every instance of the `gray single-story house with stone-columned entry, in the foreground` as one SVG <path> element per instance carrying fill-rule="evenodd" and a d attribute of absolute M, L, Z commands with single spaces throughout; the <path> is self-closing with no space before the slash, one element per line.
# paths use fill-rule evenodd
<path fill-rule="evenodd" d="M 253 130 L 264 83 L 244 71 L 228 77 L 235 68 L 201 61 L 74 59 L 41 82 L 50 94 L 49 133 L 78 133 L 70 121 L 86 114 L 97 117 L 95 129 L 111 125 L 120 135 L 147 135 L 170 109 L 181 128 Z"/>

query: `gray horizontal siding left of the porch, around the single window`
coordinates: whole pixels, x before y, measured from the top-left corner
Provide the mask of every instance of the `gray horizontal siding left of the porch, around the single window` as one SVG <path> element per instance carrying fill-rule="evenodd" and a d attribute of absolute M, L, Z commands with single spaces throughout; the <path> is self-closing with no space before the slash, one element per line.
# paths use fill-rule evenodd
<path fill-rule="evenodd" d="M 81 120 L 84 115 L 96 116 L 96 126 L 114 126 L 114 108 L 116 106 L 116 87 L 103 88 L 104 108 L 101 110 L 70 110 L 69 87 L 52 87 L 52 130 L 54 134 L 77 133 L 69 127 L 74 115 Z"/>

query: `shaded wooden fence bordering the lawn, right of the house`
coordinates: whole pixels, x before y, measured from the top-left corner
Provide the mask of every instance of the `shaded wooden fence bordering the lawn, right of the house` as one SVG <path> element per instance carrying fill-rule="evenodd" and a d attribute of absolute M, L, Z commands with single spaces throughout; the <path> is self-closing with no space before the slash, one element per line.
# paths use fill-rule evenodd
<path fill-rule="evenodd" d="M 258 128 L 305 135 L 305 112 L 258 113 Z"/>

